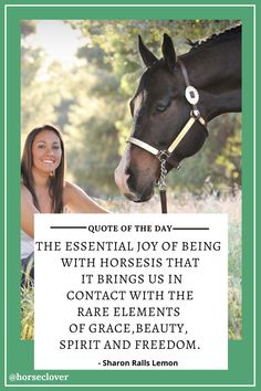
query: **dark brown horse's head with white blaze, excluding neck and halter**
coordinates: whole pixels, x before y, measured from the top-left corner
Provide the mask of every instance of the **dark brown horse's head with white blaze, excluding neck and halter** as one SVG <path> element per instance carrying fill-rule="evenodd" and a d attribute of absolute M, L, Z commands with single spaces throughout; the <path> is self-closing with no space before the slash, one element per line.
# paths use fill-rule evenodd
<path fill-rule="evenodd" d="M 138 49 L 146 71 L 130 101 L 134 118 L 132 137 L 158 150 L 167 150 L 190 118 L 191 105 L 185 97 L 186 82 L 177 63 L 171 39 L 165 34 L 163 59 L 158 60 L 139 36 Z M 203 145 L 207 133 L 195 121 L 191 129 L 171 152 L 169 171 Z M 160 175 L 160 162 L 148 150 L 128 144 L 115 170 L 115 180 L 123 194 L 135 202 L 147 201 Z"/>

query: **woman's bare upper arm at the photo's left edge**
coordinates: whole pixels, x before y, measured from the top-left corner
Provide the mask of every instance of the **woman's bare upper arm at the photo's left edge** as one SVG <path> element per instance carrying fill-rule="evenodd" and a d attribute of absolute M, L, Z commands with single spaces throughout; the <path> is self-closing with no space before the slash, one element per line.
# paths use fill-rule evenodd
<path fill-rule="evenodd" d="M 21 230 L 29 236 L 34 236 L 34 213 L 39 210 L 33 204 L 33 198 L 24 184 L 21 184 Z"/>

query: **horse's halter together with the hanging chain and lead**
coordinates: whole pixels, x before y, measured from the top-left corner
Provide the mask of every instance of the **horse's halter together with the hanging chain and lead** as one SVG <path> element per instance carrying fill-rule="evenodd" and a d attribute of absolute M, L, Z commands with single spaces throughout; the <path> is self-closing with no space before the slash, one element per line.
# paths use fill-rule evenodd
<path fill-rule="evenodd" d="M 180 168 L 179 163 L 170 160 L 170 156 L 196 121 L 199 121 L 205 127 L 206 131 L 208 133 L 207 127 L 206 127 L 207 123 L 203 119 L 203 117 L 201 116 L 201 114 L 198 109 L 198 106 L 197 106 L 198 101 L 199 101 L 199 93 L 195 87 L 192 87 L 190 85 L 189 78 L 188 78 L 188 73 L 187 73 L 186 66 L 185 66 L 184 62 L 181 61 L 181 59 L 177 59 L 177 62 L 179 63 L 179 66 L 180 66 L 180 70 L 181 70 L 182 76 L 184 76 L 184 81 L 186 84 L 185 97 L 186 97 L 187 102 L 191 105 L 190 118 L 188 119 L 188 121 L 185 124 L 182 129 L 179 131 L 177 137 L 174 139 L 174 141 L 171 142 L 171 145 L 167 149 L 157 149 L 157 148 L 150 146 L 149 144 L 147 144 L 143 140 L 139 140 L 138 138 L 135 138 L 135 137 L 129 137 L 126 140 L 126 142 L 130 142 L 135 146 L 138 146 L 139 148 L 145 149 L 149 154 L 156 156 L 156 158 L 160 161 L 160 177 L 157 182 L 157 186 L 159 188 L 159 193 L 160 193 L 161 213 L 167 213 L 167 199 L 166 199 L 167 186 L 165 182 L 165 178 L 167 176 L 166 162 L 168 162 L 170 166 L 175 167 L 177 170 Z"/>

